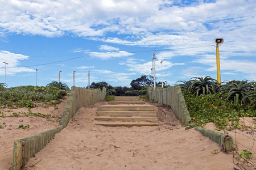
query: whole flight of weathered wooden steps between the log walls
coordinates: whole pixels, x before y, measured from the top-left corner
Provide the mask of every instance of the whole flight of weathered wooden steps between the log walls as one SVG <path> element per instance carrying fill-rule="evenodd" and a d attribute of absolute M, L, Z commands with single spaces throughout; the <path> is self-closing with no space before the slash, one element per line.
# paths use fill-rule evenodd
<path fill-rule="evenodd" d="M 118 96 L 108 105 L 98 106 L 95 125 L 159 126 L 156 107 L 139 101 L 139 96 Z"/>

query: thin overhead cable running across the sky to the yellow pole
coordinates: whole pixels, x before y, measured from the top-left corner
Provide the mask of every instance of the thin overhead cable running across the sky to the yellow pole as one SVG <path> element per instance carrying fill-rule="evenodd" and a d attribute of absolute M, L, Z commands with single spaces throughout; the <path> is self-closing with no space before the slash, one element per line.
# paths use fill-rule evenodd
<path fill-rule="evenodd" d="M 136 51 L 136 52 L 121 52 L 118 54 L 126 54 L 126 53 L 145 53 L 145 52 L 154 52 L 154 51 L 167 51 L 167 50 L 177 50 L 177 49 L 189 49 L 189 48 L 201 48 L 201 47 L 207 47 L 207 46 L 213 46 L 213 45 L 204 45 L 204 46 L 191 46 L 191 47 L 184 47 L 184 48 L 172 48 L 172 49 L 160 49 L 160 50 L 142 50 L 142 51 Z M 97 54 L 97 56 L 105 56 L 105 55 L 113 55 L 113 52 L 110 53 L 104 53 L 104 54 Z M 43 66 L 43 65 L 50 65 L 53 63 L 59 63 L 59 62 L 65 62 L 65 61 L 70 61 L 73 59 L 77 59 L 77 58 L 82 58 L 82 57 L 88 57 L 88 56 L 96 56 L 95 54 L 88 54 L 88 55 L 84 55 L 84 56 L 79 56 L 79 57 L 74 57 L 74 58 L 69 58 L 69 59 L 64 59 L 64 60 L 60 60 L 60 61 L 55 61 L 55 62 L 48 62 L 48 63 L 43 63 L 43 64 L 39 64 L 39 65 L 30 65 L 30 66 L 20 66 L 20 67 L 8 67 L 8 69 L 14 69 L 14 68 L 22 68 L 22 67 L 35 67 L 35 66 Z M 53 57 L 53 56 L 52 56 Z M 59 56 L 61 57 L 61 56 Z M 3 69 L 3 68 L 0 68 Z"/>

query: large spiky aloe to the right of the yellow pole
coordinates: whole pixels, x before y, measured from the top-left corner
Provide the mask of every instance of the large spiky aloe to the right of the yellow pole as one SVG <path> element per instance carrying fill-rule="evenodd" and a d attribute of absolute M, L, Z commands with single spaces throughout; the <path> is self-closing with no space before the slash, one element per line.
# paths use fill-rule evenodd
<path fill-rule="evenodd" d="M 252 83 L 248 82 L 248 80 L 232 80 L 229 81 L 229 83 L 222 85 L 222 87 L 223 88 L 220 91 L 220 96 L 228 94 L 226 96 L 226 101 L 233 100 L 234 104 L 238 104 L 239 102 L 241 104 L 246 104 L 246 96 L 249 95 L 252 90 L 254 90 L 254 86 L 252 85 Z"/>

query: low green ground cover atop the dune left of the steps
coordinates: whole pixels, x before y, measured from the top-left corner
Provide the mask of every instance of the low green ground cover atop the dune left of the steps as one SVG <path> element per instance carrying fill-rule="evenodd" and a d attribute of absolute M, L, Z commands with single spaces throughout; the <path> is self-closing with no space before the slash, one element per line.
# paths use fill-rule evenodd
<path fill-rule="evenodd" d="M 60 88 L 49 86 L 19 86 L 3 88 L 0 90 L 0 105 L 1 108 L 9 107 L 36 107 L 37 103 L 46 105 L 59 104 L 67 91 Z"/>

